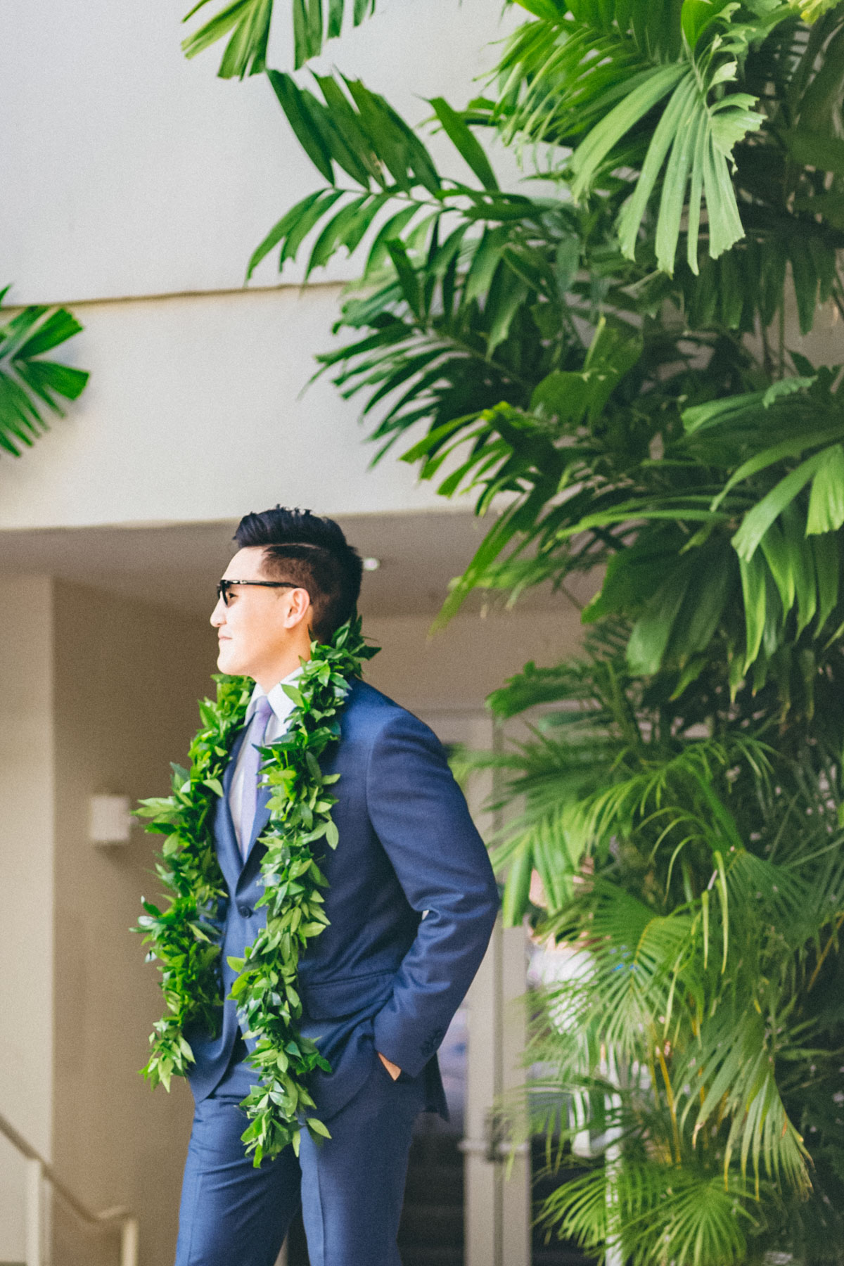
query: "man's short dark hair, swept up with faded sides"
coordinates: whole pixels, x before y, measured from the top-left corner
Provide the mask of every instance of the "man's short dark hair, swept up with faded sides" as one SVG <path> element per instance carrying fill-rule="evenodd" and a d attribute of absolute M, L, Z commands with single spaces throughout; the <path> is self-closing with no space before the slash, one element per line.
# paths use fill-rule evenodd
<path fill-rule="evenodd" d="M 263 548 L 270 576 L 307 590 L 314 611 L 311 636 L 318 642 L 329 642 L 354 615 L 363 563 L 333 519 L 277 505 L 244 515 L 234 541 L 240 549 Z"/>

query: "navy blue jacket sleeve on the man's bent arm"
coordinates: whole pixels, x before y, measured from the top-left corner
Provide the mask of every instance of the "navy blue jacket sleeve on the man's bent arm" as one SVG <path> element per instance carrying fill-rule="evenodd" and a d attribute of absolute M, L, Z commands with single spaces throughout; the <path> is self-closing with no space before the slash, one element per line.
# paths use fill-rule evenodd
<path fill-rule="evenodd" d="M 373 743 L 367 806 L 407 901 L 426 912 L 375 1017 L 376 1048 L 415 1076 L 481 965 L 499 891 L 445 752 L 410 713 L 391 719 Z"/>

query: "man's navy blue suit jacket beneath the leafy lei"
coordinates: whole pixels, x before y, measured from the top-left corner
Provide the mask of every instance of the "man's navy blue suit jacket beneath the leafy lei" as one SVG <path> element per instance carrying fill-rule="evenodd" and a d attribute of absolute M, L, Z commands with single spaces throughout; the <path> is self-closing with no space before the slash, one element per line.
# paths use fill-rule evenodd
<path fill-rule="evenodd" d="M 339 719 L 339 742 L 321 761 L 324 774 L 340 775 L 332 786 L 339 844 L 320 861 L 330 923 L 310 942 L 299 974 L 302 1034 L 332 1065 L 330 1074 L 314 1074 L 311 1093 L 328 1119 L 354 1095 L 381 1051 L 405 1075 L 424 1070 L 428 1105 L 444 1113 L 435 1052 L 492 932 L 499 908 L 492 868 L 442 744 L 423 722 L 363 681 L 352 684 Z M 240 742 L 214 824 L 228 890 L 220 910 L 227 1000 L 216 1037 L 186 1034 L 197 1100 L 221 1079 L 239 1033 L 228 958 L 243 956 L 266 925 L 264 908 L 256 908 L 264 849 L 254 841 L 267 823 L 267 795 L 245 863 L 228 801 Z"/>

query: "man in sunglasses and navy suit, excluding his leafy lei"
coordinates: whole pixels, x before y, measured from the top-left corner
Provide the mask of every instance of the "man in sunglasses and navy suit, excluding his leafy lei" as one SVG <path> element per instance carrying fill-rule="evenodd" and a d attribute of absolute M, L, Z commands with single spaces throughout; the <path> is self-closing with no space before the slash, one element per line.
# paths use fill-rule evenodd
<path fill-rule="evenodd" d="M 266 925 L 261 856 L 267 794 L 256 744 L 285 730 L 311 639 L 353 615 L 362 565 L 340 528 L 304 510 L 247 515 L 211 615 L 221 672 L 253 677 L 254 694 L 218 803 L 215 844 L 228 900 L 229 956 Z M 444 752 L 420 720 L 353 681 L 340 737 L 323 758 L 338 774 L 326 849 L 329 927 L 300 962 L 300 1032 L 330 1063 L 310 1090 L 330 1138 L 302 1131 L 254 1169 L 240 1136 L 240 1100 L 257 1081 L 234 1003 L 216 1036 L 190 1032 L 196 1100 L 185 1167 L 176 1266 L 273 1266 L 300 1204 L 311 1266 L 399 1266 L 396 1233 L 413 1123 L 445 1113 L 437 1048 L 486 950 L 497 890 L 486 849 Z"/>

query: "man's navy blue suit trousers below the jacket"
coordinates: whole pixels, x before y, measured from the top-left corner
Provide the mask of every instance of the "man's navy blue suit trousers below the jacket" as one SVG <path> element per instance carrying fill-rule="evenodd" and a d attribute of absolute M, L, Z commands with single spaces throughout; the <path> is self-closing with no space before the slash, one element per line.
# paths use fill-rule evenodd
<path fill-rule="evenodd" d="M 240 1134 L 240 1100 L 254 1081 L 230 1065 L 196 1104 L 180 1210 L 176 1266 L 275 1266 L 287 1228 L 302 1209 L 311 1266 L 400 1266 L 396 1236 L 413 1124 L 425 1076 L 394 1081 L 375 1050 L 368 1077 L 328 1122 L 332 1137 L 302 1133 L 292 1148 L 256 1170 Z"/>

